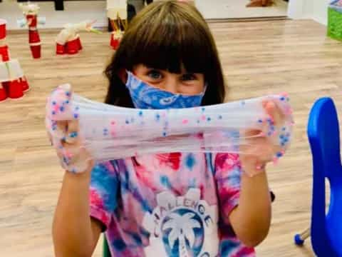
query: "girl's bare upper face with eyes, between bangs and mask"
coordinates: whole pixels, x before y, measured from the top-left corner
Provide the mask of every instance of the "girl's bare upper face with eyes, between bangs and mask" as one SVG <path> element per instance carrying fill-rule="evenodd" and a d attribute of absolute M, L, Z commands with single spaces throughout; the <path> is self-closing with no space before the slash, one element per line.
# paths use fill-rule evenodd
<path fill-rule="evenodd" d="M 184 68 L 181 74 L 173 74 L 138 64 L 133 74 L 150 86 L 173 94 L 196 95 L 204 91 L 204 74 L 188 73 Z"/>

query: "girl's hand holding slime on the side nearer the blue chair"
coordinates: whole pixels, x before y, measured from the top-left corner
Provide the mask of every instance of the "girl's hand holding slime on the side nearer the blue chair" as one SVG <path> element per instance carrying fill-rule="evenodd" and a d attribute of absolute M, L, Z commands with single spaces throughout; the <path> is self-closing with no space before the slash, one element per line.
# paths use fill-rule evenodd
<path fill-rule="evenodd" d="M 284 123 L 284 114 L 274 101 L 264 101 L 262 105 L 266 114 L 269 114 L 269 118 L 274 122 L 274 126 L 281 126 Z M 246 146 L 242 148 L 240 161 L 247 175 L 254 176 L 263 172 L 267 163 L 274 161 L 274 156 L 281 151 L 281 147 L 275 146 L 271 138 L 262 135 L 260 130 L 251 129 L 245 133 L 245 136 L 248 139 Z"/>

